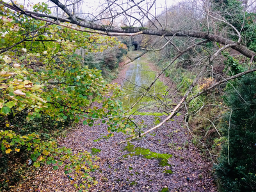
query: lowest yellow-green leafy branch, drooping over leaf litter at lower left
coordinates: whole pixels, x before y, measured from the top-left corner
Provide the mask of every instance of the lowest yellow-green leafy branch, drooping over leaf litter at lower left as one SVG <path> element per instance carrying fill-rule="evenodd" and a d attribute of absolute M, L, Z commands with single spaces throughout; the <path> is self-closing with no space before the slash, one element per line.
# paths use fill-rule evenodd
<path fill-rule="evenodd" d="M 52 164 L 56 170 L 62 166 L 65 173 L 73 173 L 74 179 L 81 180 L 80 187 L 88 188 L 90 184 L 96 184 L 97 180 L 90 177 L 90 172 L 98 168 L 95 161 L 97 157 L 92 157 L 89 152 L 78 152 L 74 154 L 70 148 L 58 147 L 56 141 L 42 141 L 40 134 L 35 132 L 20 136 L 13 131 L 0 131 L 1 150 L 8 158 L 18 154 L 27 154 L 31 158 L 33 165 L 38 168 L 41 164 Z"/>

